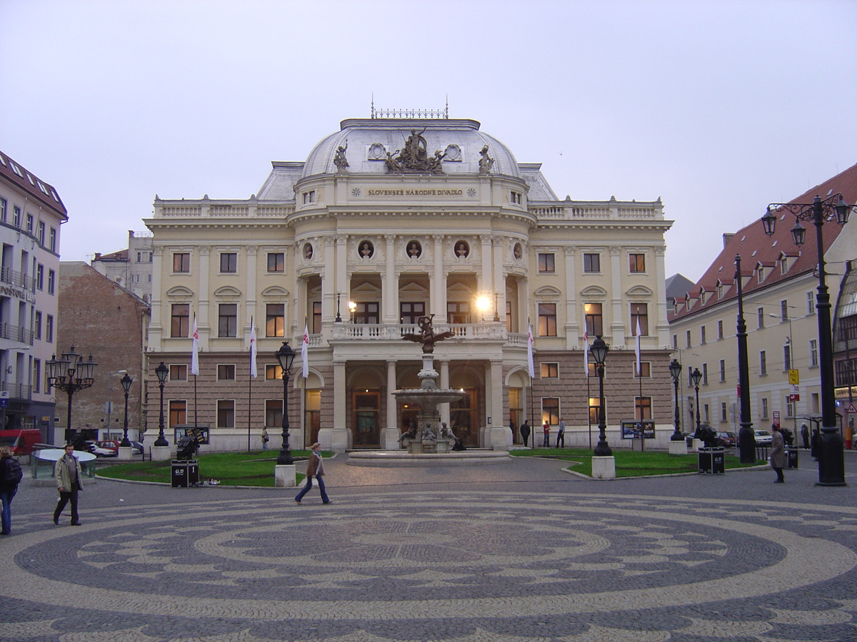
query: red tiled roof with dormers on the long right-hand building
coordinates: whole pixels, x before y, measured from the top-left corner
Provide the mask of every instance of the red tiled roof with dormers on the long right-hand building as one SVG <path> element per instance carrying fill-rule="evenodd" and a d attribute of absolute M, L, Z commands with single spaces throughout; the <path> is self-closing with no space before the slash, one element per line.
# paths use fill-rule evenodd
<path fill-rule="evenodd" d="M 791 203 L 812 203 L 817 195 L 822 199 L 826 199 L 829 193 L 842 193 L 842 198 L 851 205 L 857 201 L 857 165 L 854 165 L 841 174 L 834 176 L 828 181 L 824 181 L 821 185 L 812 187 L 799 197 L 789 202 Z M 716 303 L 732 299 L 737 296 L 736 285 L 734 282 L 735 276 L 735 256 L 740 254 L 741 257 L 741 272 L 744 276 L 753 276 L 742 289 L 745 294 L 751 293 L 761 288 L 767 288 L 776 282 L 787 281 L 795 276 L 814 270 L 818 265 L 818 252 L 815 243 L 815 230 L 812 229 L 812 223 L 803 223 L 806 227 L 806 243 L 800 249 L 795 247 L 792 240 L 791 229 L 794 226 L 794 216 L 789 212 L 782 212 L 778 215 L 779 219 L 776 222 L 776 229 L 773 236 L 768 236 L 762 229 L 762 223 L 759 219 L 753 221 L 745 228 L 738 230 L 723 247 L 722 252 L 705 270 L 704 275 L 696 283 L 688 293 L 689 298 L 698 298 L 699 291 L 704 288 L 706 290 L 716 289 L 717 280 L 720 279 L 724 284 L 729 285 L 728 290 L 723 292 L 722 298 L 711 297 L 707 303 L 699 300 L 695 301 L 690 310 L 686 310 L 684 306 L 680 306 L 680 312 L 669 315 L 669 320 L 683 318 L 688 315 L 704 310 Z M 857 224 L 854 217 L 847 223 L 848 225 Z M 842 227 L 836 223 L 825 224 L 822 227 L 822 239 L 824 247 L 830 247 L 836 237 L 842 231 Z M 788 270 L 785 274 L 781 274 L 777 268 L 779 259 L 782 254 L 790 258 Z M 755 269 L 758 265 L 763 265 L 766 268 L 773 268 L 770 274 L 764 277 L 764 280 L 759 283 L 755 278 Z M 677 306 L 678 307 L 678 306 Z"/>

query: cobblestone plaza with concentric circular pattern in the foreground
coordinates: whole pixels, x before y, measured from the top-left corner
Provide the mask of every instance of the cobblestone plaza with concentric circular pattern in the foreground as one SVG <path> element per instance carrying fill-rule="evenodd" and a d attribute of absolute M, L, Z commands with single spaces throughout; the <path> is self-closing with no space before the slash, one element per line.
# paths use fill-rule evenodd
<path fill-rule="evenodd" d="M 594 482 L 560 461 L 349 467 L 317 492 L 28 479 L 0 639 L 857 640 L 857 461 Z M 202 471 L 204 474 L 205 472 Z"/>

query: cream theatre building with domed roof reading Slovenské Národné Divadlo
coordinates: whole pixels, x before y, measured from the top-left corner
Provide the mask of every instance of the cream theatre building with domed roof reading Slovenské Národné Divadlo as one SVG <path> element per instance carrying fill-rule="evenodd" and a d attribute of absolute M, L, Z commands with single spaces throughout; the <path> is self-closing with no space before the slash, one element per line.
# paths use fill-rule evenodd
<path fill-rule="evenodd" d="M 596 335 L 611 346 L 614 440 L 620 419 L 641 415 L 668 427 L 658 433 L 668 439 L 663 236 L 672 222 L 660 199 L 558 199 L 540 163 L 518 163 L 479 122 L 381 116 L 341 122 L 303 162 L 274 162 L 249 199 L 156 197 L 145 221 L 147 356 L 150 377 L 160 361 L 170 368 L 170 425 L 208 425 L 213 443 L 231 447 L 262 425 L 278 434 L 274 354 L 284 340 L 300 354 L 306 326 L 309 375 L 298 356 L 290 379 L 291 445 L 383 448 L 385 429 L 416 417 L 393 390 L 419 385 L 420 350 L 402 336 L 431 316 L 435 331 L 454 335 L 434 349 L 439 385 L 465 393 L 440 419 L 465 444 L 491 445 L 484 429 L 510 421 L 547 420 L 555 431 L 560 418 L 566 444 L 589 444 L 598 398 L 585 337 Z M 258 378 L 249 376 L 251 326 Z M 150 404 L 149 425 L 157 411 Z"/>

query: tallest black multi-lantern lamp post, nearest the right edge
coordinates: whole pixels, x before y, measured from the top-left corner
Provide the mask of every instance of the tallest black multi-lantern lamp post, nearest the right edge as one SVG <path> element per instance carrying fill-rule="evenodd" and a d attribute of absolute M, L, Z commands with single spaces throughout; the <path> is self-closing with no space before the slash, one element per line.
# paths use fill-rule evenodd
<path fill-rule="evenodd" d="M 836 221 L 839 225 L 848 223 L 851 205 L 842 199 L 841 193 L 833 194 L 822 200 L 816 196 L 812 203 L 771 203 L 768 205 L 762 226 L 766 235 L 773 235 L 776 226 L 776 214 L 788 211 L 794 214 L 794 228 L 791 229 L 794 245 L 800 247 L 806 240 L 806 228 L 801 221 L 810 221 L 815 225 L 816 252 L 818 253 L 818 352 L 820 356 L 821 378 L 821 443 L 818 451 L 818 485 L 845 485 L 845 450 L 842 436 L 836 428 L 836 399 L 833 381 L 833 335 L 830 330 L 830 294 L 824 282 L 824 242 L 822 228 L 824 223 Z M 775 214 L 776 212 L 776 214 Z"/>

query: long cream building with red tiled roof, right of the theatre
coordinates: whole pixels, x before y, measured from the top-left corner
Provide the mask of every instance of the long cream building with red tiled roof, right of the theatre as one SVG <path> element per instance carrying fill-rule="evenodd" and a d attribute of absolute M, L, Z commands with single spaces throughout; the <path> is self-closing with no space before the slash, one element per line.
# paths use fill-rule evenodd
<path fill-rule="evenodd" d="M 793 203 L 812 203 L 831 193 L 842 193 L 854 204 L 857 199 L 857 165 L 821 185 L 812 187 Z M 821 413 L 819 374 L 818 252 L 815 229 L 806 224 L 806 243 L 794 245 L 790 231 L 794 215 L 785 212 L 777 221 L 775 234 L 764 234 L 757 219 L 734 234 L 723 235 L 723 250 L 702 278 L 686 294 L 674 299 L 670 334 L 674 356 L 684 366 L 682 395 L 685 395 L 682 425 L 695 425 L 697 408 L 691 372 L 702 373 L 699 385 L 699 417 L 718 431 L 737 432 L 740 422 L 738 399 L 738 313 L 735 256 L 741 257 L 747 351 L 750 366 L 751 418 L 754 429 L 770 429 L 779 422 L 792 431 L 813 421 Z M 848 323 L 838 319 L 854 315 L 848 296 L 838 295 L 842 275 L 857 248 L 857 226 L 852 220 L 840 227 L 835 222 L 823 226 L 827 287 L 834 304 L 834 328 L 844 331 Z M 839 305 L 836 306 L 836 301 Z M 854 344 L 852 344 L 854 345 Z M 848 408 L 848 377 L 844 359 L 844 339 L 836 344 L 842 351 L 837 366 L 837 412 Z M 792 372 L 791 378 L 789 372 Z M 794 383 L 796 381 L 796 383 Z M 843 402 L 844 400 L 844 402 Z M 845 435 L 847 440 L 850 437 Z"/>

